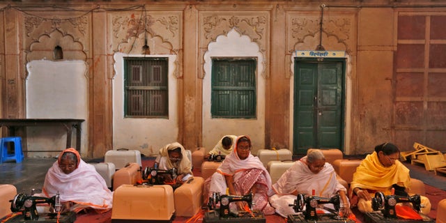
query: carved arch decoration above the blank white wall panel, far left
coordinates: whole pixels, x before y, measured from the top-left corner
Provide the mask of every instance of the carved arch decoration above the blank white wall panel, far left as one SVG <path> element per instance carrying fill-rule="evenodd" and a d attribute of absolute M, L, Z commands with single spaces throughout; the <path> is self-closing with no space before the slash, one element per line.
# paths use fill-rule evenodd
<path fill-rule="evenodd" d="M 49 19 L 26 15 L 24 32 L 25 63 L 52 59 L 56 46 L 63 49 L 63 59 L 87 61 L 89 57 L 89 19 L 86 16 L 64 19 L 54 15 Z"/>

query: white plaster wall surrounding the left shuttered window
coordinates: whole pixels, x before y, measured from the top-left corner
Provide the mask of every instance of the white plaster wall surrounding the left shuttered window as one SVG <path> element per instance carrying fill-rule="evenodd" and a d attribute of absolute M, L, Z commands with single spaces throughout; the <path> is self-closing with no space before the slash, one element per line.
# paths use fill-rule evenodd
<path fill-rule="evenodd" d="M 150 55 L 168 57 L 169 118 L 124 117 L 124 56 L 142 57 L 141 54 L 114 54 L 113 79 L 113 148 L 128 148 L 144 155 L 157 155 L 159 149 L 178 141 L 178 87 L 174 75 L 176 55 Z"/>

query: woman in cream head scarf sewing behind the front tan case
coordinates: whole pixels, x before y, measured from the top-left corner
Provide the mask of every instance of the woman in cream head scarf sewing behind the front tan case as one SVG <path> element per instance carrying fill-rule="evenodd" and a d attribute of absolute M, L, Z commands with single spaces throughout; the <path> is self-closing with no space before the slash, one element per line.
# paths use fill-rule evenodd
<path fill-rule="evenodd" d="M 177 170 L 176 179 L 166 178 L 169 183 L 183 183 L 193 176 L 192 162 L 186 155 L 185 148 L 178 142 L 167 144 L 160 149 L 160 153 L 156 157 L 155 165 L 159 169 L 169 170 L 175 168 Z"/>

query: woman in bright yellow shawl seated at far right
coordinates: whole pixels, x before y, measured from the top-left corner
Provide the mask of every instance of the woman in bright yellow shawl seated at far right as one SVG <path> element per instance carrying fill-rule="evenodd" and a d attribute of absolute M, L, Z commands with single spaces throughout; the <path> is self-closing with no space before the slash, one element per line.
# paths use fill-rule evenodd
<path fill-rule="evenodd" d="M 390 195 L 394 188 L 394 194 L 408 196 L 408 187 L 409 169 L 399 162 L 399 149 L 394 144 L 385 143 L 375 146 L 374 153 L 367 155 L 357 167 L 349 196 L 352 206 L 357 206 L 362 213 L 369 213 L 373 211 L 371 199 L 376 192 Z M 427 215 L 431 210 L 431 203 L 423 196 L 421 201 L 424 205 L 421 212 Z"/>

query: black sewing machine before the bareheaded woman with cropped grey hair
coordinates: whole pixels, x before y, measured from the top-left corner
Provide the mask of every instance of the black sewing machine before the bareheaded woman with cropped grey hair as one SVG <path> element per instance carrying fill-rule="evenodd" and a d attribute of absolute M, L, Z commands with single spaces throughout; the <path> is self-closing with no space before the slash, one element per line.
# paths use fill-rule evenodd
<path fill-rule="evenodd" d="M 332 203 L 334 209 L 321 206 L 321 208 L 328 210 L 330 213 L 317 214 L 316 208 L 319 204 Z M 347 219 L 345 217 L 339 216 L 339 209 L 341 208 L 341 199 L 339 194 L 333 197 L 316 197 L 307 196 L 305 194 L 298 194 L 297 199 L 294 203 L 289 204 L 293 206 L 293 210 L 297 215 L 289 215 L 288 222 L 354 222 L 353 220 Z M 305 210 L 304 210 L 305 207 Z M 299 213 L 302 212 L 302 213 Z"/>

